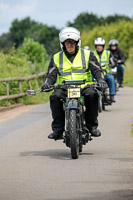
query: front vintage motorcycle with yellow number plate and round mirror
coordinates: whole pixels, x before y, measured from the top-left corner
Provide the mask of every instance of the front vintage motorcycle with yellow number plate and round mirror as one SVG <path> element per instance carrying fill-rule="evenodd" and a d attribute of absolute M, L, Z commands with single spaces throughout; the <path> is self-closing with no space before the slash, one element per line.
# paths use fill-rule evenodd
<path fill-rule="evenodd" d="M 81 85 L 86 82 L 85 79 L 80 80 L 64 80 L 63 85 L 51 86 L 51 89 L 58 89 L 67 87 L 66 100 L 61 99 L 63 102 L 63 109 L 65 111 L 65 134 L 64 143 L 71 149 L 72 159 L 79 157 L 79 152 L 82 152 L 83 145 L 92 140 L 91 134 L 85 125 L 85 106 L 84 97 L 81 96 Z M 98 90 L 96 84 L 87 85 Z M 40 90 L 39 92 L 46 92 L 48 90 Z M 28 96 L 34 96 L 38 92 L 34 90 L 27 90 Z"/>

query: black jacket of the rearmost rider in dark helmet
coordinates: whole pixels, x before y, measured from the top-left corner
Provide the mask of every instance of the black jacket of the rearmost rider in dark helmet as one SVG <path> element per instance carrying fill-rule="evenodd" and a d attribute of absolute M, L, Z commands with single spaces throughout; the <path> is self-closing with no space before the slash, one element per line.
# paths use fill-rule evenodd
<path fill-rule="evenodd" d="M 117 62 L 118 60 L 121 60 L 121 64 L 125 63 L 125 57 L 124 57 L 123 51 L 120 48 L 117 47 L 116 50 L 112 50 L 111 48 L 108 48 L 108 50 L 110 50 L 111 53 L 113 54 L 115 62 Z"/>

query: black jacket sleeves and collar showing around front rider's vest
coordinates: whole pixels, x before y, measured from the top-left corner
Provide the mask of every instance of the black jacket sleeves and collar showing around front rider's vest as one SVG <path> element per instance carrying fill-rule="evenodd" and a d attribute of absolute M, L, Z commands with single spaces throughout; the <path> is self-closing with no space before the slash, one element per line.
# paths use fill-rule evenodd
<path fill-rule="evenodd" d="M 66 52 L 65 54 L 66 54 L 67 58 L 72 63 L 77 53 L 71 55 L 71 54 Z M 97 61 L 97 58 L 95 57 L 95 55 L 92 52 L 90 52 L 88 70 L 91 70 L 93 77 L 97 81 L 99 79 L 104 79 L 104 75 L 103 75 L 102 69 L 100 68 L 100 64 L 99 64 L 99 62 Z M 52 57 L 52 59 L 49 63 L 49 66 L 48 66 L 48 72 L 47 72 L 47 75 L 46 75 L 46 78 L 45 78 L 45 83 L 48 83 L 49 85 L 55 84 L 58 74 L 59 74 L 58 68 L 55 65 L 54 59 Z"/>

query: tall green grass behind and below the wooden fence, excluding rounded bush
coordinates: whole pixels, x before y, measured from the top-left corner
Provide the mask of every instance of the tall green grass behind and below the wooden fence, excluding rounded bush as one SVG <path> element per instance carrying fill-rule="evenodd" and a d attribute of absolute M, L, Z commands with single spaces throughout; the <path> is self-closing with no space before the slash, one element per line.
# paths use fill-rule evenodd
<path fill-rule="evenodd" d="M 9 54 L 0 52 L 0 78 L 12 77 L 26 77 L 32 74 L 39 74 L 40 72 L 47 71 L 48 60 L 45 63 L 31 63 L 25 56 L 19 56 L 14 49 Z M 32 89 L 38 91 L 44 83 L 44 77 L 39 78 L 39 88 L 36 88 L 35 80 L 31 81 Z M 9 83 L 10 95 L 18 94 L 18 82 L 13 81 Z M 28 90 L 27 81 L 22 82 L 22 92 Z M 0 96 L 6 95 L 6 82 L 0 83 Z M 0 106 L 10 106 L 12 104 L 41 104 L 47 102 L 49 93 L 41 93 L 34 97 L 21 97 L 12 100 L 0 101 Z"/>

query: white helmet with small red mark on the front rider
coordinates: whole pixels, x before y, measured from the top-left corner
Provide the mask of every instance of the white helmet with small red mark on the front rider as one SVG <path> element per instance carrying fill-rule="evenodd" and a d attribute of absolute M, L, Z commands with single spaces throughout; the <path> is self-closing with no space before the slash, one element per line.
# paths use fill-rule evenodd
<path fill-rule="evenodd" d="M 80 32 L 74 27 L 65 27 L 59 33 L 59 40 L 61 49 L 63 49 L 63 42 L 67 39 L 77 41 L 77 47 L 81 45 Z"/>

